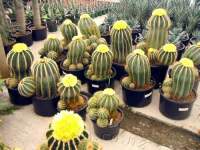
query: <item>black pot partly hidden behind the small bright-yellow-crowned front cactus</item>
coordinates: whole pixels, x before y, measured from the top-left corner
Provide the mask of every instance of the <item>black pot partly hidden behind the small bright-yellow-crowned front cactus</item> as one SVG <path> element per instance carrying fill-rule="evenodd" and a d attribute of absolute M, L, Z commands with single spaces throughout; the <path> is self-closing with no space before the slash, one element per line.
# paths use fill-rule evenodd
<path fill-rule="evenodd" d="M 84 72 L 85 72 L 87 67 L 84 67 L 81 70 L 66 70 L 63 67 L 63 61 L 62 61 L 60 63 L 60 68 L 62 70 L 62 74 L 73 74 L 81 81 L 82 84 L 84 84 L 86 82 L 86 79 L 85 79 L 85 76 L 84 76 Z"/>

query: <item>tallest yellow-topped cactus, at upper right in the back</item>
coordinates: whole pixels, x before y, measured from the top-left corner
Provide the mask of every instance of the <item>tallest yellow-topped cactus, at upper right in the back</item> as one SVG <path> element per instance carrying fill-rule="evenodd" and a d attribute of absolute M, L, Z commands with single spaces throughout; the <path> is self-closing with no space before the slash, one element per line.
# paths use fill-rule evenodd
<path fill-rule="evenodd" d="M 159 49 L 163 46 L 167 42 L 170 26 L 171 21 L 166 10 L 162 8 L 155 9 L 147 23 L 146 42 L 148 48 Z"/>

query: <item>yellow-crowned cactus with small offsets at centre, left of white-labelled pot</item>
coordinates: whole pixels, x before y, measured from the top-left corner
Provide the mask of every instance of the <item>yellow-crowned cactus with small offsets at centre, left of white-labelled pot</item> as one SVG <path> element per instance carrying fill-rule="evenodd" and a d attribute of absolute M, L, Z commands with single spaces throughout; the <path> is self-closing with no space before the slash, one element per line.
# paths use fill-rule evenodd
<path fill-rule="evenodd" d="M 112 76 L 113 53 L 105 44 L 100 44 L 92 54 L 87 76 L 92 80 L 103 80 Z"/>

